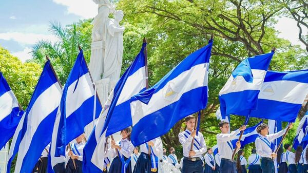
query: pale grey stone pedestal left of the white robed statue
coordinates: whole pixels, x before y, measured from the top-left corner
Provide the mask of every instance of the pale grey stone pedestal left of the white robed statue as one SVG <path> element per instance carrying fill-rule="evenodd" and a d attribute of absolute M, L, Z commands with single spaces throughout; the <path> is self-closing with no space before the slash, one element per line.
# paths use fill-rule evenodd
<path fill-rule="evenodd" d="M 102 79 L 104 71 L 105 45 L 103 41 L 92 42 L 89 70 L 93 81 Z"/>

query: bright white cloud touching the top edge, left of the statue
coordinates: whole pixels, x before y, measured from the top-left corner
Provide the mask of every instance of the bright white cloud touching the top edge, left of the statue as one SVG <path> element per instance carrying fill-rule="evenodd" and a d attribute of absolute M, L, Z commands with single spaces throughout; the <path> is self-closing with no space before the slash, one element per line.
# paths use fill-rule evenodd
<path fill-rule="evenodd" d="M 92 0 L 52 0 L 67 7 L 67 12 L 83 18 L 92 18 L 98 14 L 98 5 Z"/>

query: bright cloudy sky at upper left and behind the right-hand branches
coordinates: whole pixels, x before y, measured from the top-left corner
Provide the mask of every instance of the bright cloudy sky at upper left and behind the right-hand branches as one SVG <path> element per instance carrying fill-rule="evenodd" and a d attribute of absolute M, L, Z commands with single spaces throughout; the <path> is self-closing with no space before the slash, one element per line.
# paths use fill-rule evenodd
<path fill-rule="evenodd" d="M 24 62 L 31 58 L 29 52 L 38 40 L 56 41 L 48 32 L 50 21 L 68 25 L 96 14 L 97 5 L 92 0 L 2 0 L 0 45 Z M 296 22 L 292 19 L 280 18 L 276 29 L 281 32 L 280 37 L 300 44 Z"/>

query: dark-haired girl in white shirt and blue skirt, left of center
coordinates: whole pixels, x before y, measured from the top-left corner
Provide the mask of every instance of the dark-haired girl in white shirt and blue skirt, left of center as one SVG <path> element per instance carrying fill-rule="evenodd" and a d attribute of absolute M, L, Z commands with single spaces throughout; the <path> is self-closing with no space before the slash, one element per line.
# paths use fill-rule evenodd
<path fill-rule="evenodd" d="M 130 142 L 130 134 L 131 127 L 127 127 L 121 130 L 122 139 L 120 141 L 115 143 L 114 140 L 111 140 L 111 157 L 113 157 L 113 161 L 110 165 L 109 173 L 131 173 L 130 155 L 134 147 Z"/>

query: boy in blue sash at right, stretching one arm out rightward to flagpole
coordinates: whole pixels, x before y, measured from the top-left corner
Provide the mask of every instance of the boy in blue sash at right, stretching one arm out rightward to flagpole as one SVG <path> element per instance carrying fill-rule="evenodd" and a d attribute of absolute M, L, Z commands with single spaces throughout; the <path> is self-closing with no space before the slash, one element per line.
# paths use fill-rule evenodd
<path fill-rule="evenodd" d="M 289 125 L 292 128 L 292 123 Z M 273 173 L 275 172 L 274 161 L 272 158 L 276 158 L 277 154 L 272 151 L 271 142 L 275 139 L 281 137 L 285 130 L 281 130 L 274 134 L 268 134 L 268 126 L 267 124 L 260 124 L 257 127 L 257 132 L 259 133 L 259 137 L 256 139 L 256 149 L 257 154 L 262 157 L 261 159 L 261 169 L 262 173 Z"/>

